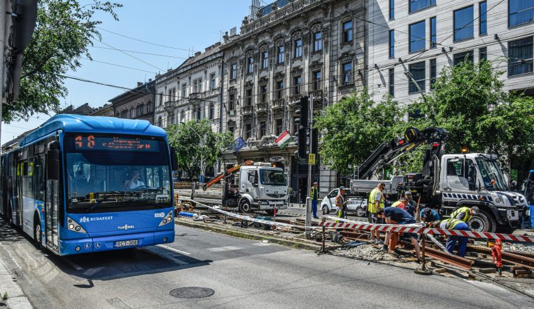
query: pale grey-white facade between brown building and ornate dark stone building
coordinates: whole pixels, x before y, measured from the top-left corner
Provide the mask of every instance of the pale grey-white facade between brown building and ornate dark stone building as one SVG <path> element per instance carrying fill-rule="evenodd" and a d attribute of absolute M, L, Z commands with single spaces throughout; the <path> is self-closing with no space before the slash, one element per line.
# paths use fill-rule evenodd
<path fill-rule="evenodd" d="M 156 125 L 207 118 L 213 132 L 220 132 L 222 68 L 223 52 L 217 42 L 178 68 L 156 75 Z"/>

